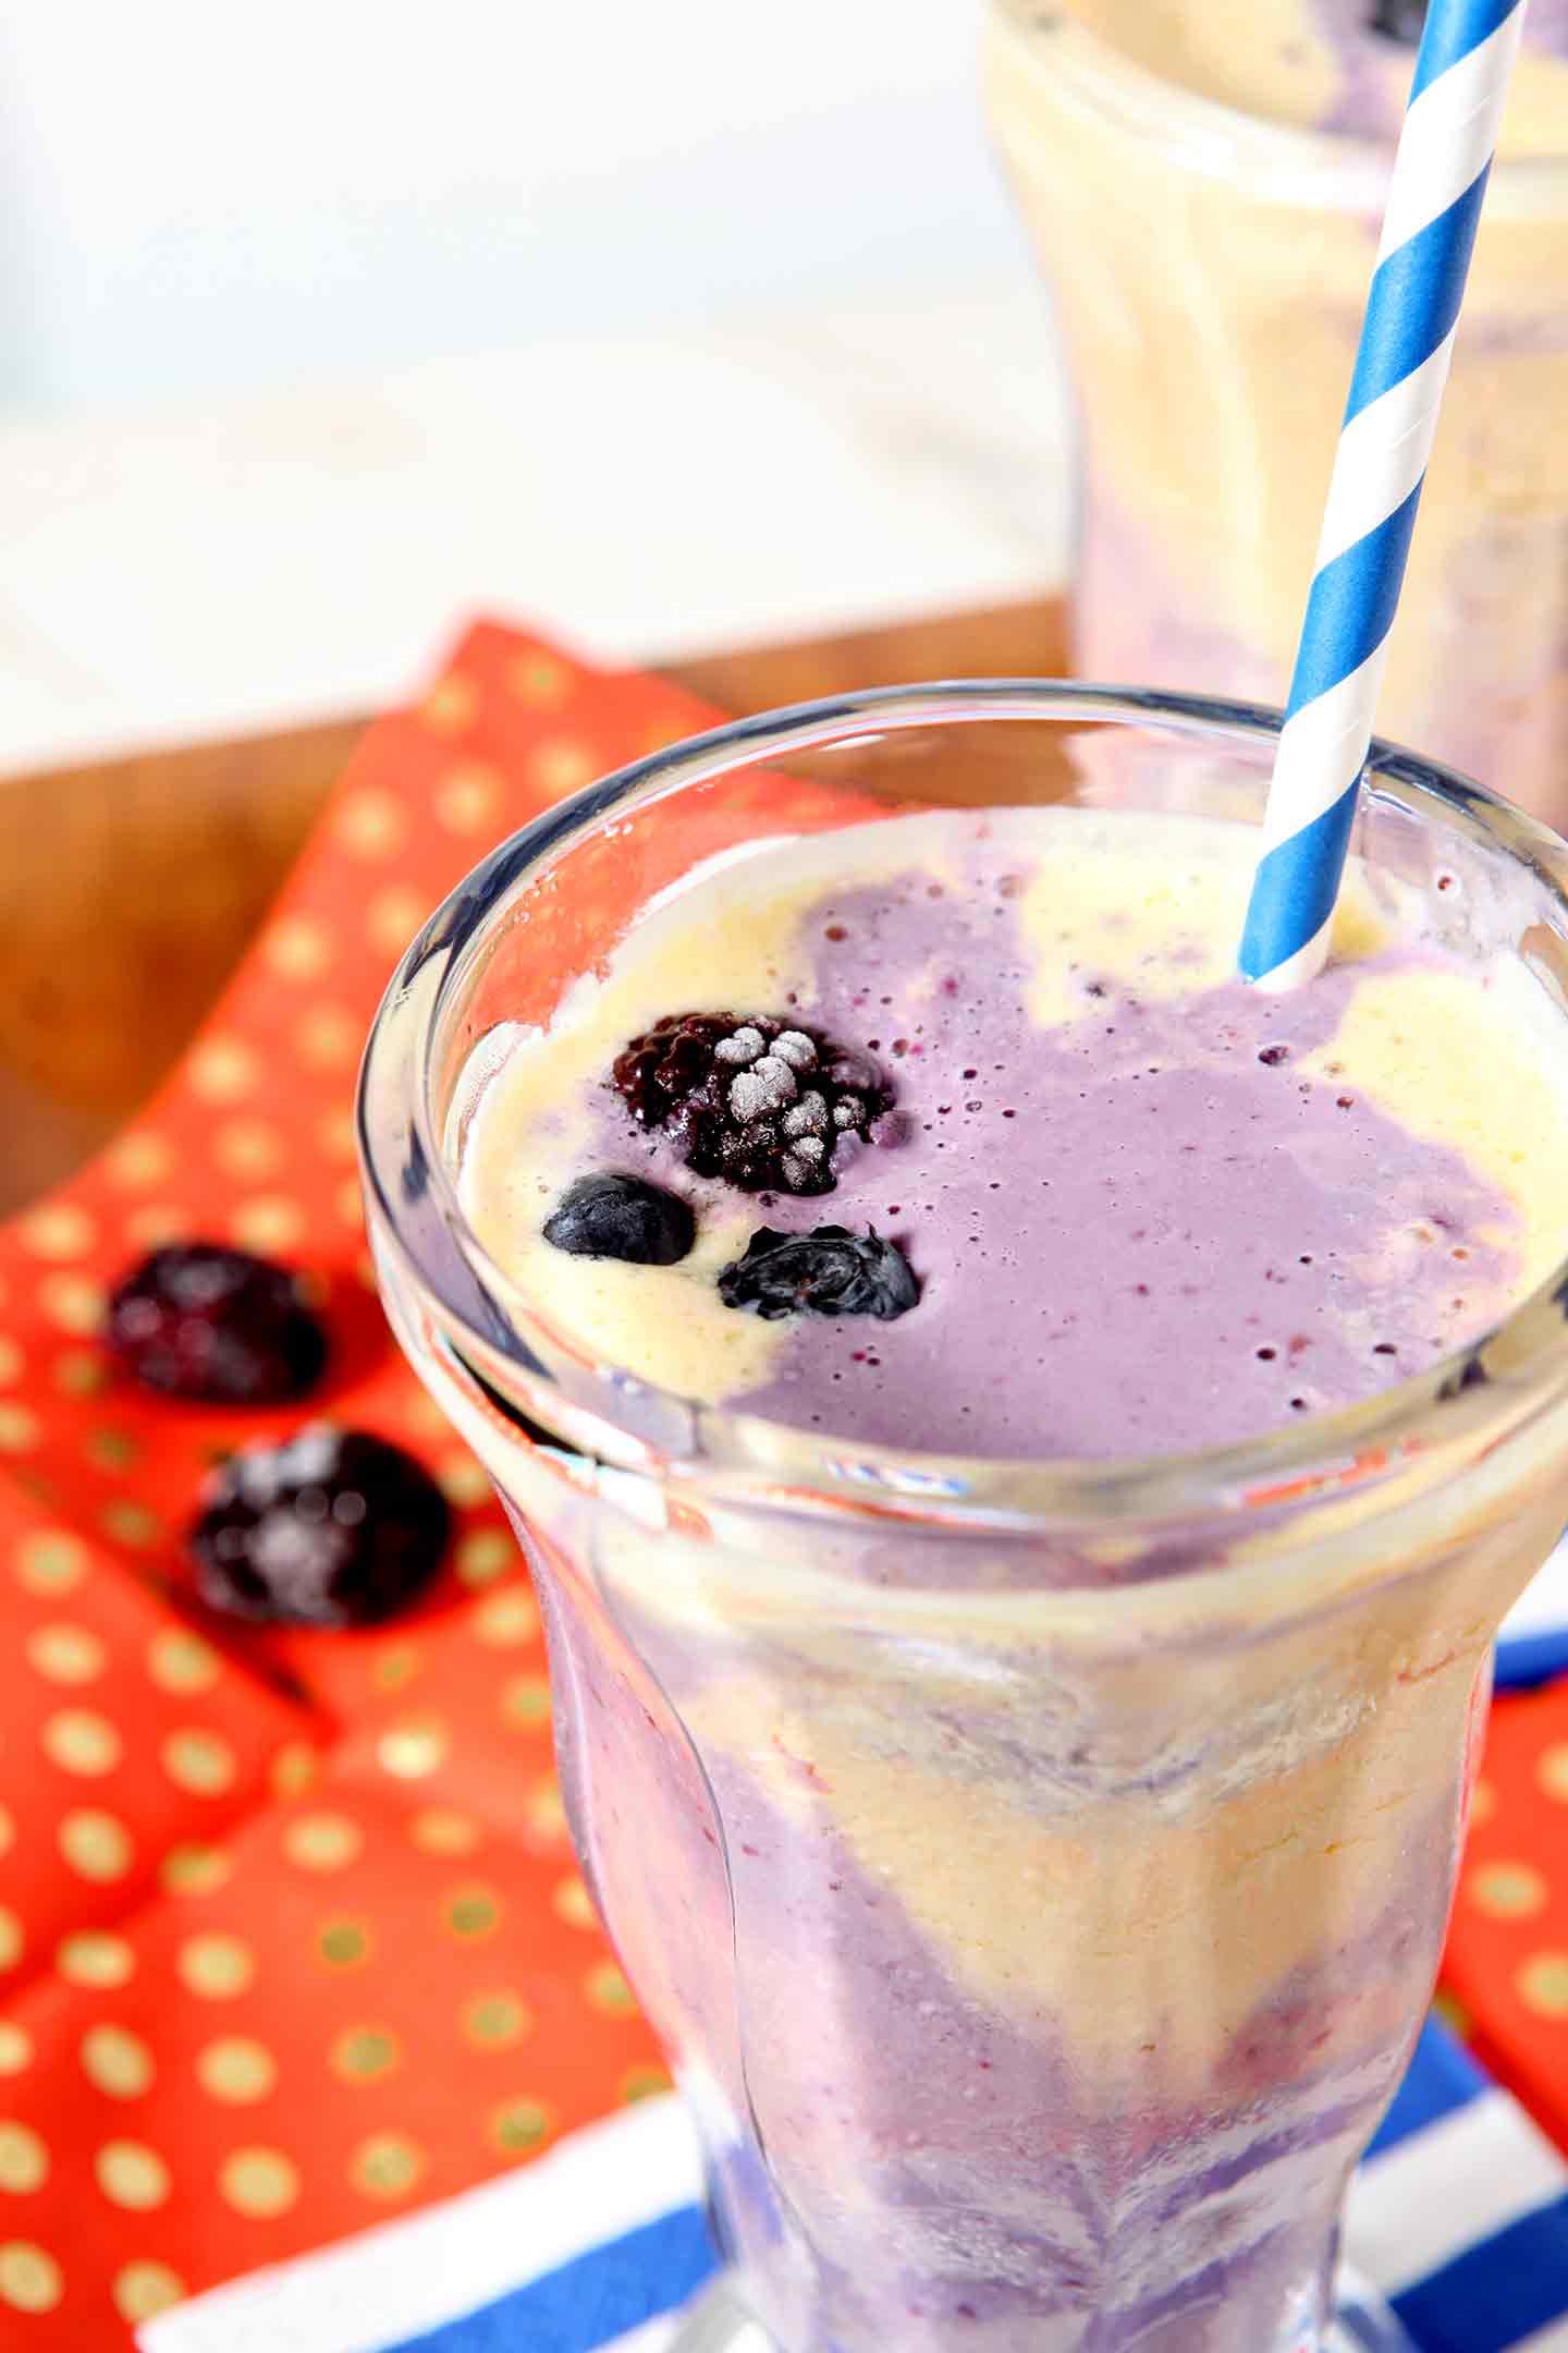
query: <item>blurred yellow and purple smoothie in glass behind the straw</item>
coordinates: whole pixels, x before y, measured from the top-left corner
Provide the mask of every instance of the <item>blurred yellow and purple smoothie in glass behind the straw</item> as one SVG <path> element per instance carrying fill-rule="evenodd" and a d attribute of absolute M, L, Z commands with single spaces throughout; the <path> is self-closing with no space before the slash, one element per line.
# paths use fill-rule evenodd
<path fill-rule="evenodd" d="M 1422 0 L 990 0 L 1081 435 L 1074 656 L 1284 699 Z M 1568 0 L 1535 0 L 1380 729 L 1568 814 Z"/>

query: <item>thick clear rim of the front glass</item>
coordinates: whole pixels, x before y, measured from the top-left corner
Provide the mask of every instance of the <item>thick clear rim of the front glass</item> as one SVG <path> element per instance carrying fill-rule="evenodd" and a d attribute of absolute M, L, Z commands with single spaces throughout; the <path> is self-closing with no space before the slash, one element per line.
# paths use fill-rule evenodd
<path fill-rule="evenodd" d="M 1281 727 L 1281 713 L 1262 704 L 1051 678 L 936 680 L 792 704 L 609 772 L 498 842 L 428 918 L 371 1024 L 355 1132 L 371 1242 L 414 1282 L 465 1369 L 480 1372 L 491 1391 L 498 1367 L 515 1369 L 534 1395 L 543 1381 L 567 1424 L 562 1442 L 611 1468 L 656 1468 L 698 1492 L 712 1487 L 717 1494 L 738 1482 L 802 1506 L 837 1501 L 896 1515 L 914 1508 L 924 1520 L 952 1515 L 954 1527 L 980 1515 L 1041 1532 L 1227 1515 L 1239 1506 L 1345 1487 L 1349 1478 L 1406 1478 L 1422 1461 L 1453 1466 L 1455 1445 L 1493 1452 L 1547 1407 L 1568 1402 L 1568 1252 L 1502 1322 L 1359 1405 L 1305 1414 L 1225 1447 L 1088 1461 L 875 1447 L 733 1405 L 705 1405 L 585 1358 L 571 1334 L 531 1308 L 468 1224 L 433 1096 L 442 1019 L 482 965 L 520 889 L 628 802 L 651 807 L 790 753 L 985 720 L 1143 725 L 1232 746 L 1267 744 Z M 1403 807 L 1410 793 L 1436 802 L 1455 819 L 1455 831 L 1533 873 L 1556 899 L 1568 941 L 1568 845 L 1547 826 L 1385 739 L 1371 746 L 1363 791 Z M 418 1233 L 411 1205 L 421 1209 Z M 567 1360 L 574 1379 L 562 1381 L 552 1360 Z M 541 1417 L 550 1417 L 548 1405 Z M 651 1419 L 658 1424 L 654 1440 L 646 1435 Z"/>

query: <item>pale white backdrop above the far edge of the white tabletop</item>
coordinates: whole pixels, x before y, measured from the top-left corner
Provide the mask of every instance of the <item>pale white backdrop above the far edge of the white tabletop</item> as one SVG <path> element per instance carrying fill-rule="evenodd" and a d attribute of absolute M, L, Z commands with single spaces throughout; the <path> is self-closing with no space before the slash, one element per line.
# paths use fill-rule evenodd
<path fill-rule="evenodd" d="M 978 7 L 7 0 L 0 405 L 1016 278 Z"/>

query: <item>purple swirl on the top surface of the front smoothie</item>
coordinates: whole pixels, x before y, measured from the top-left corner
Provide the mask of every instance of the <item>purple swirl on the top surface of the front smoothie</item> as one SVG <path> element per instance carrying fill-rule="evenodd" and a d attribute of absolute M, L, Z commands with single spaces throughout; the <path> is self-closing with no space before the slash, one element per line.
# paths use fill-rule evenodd
<path fill-rule="evenodd" d="M 736 1007 L 863 1047 L 898 1111 L 898 1141 L 839 1153 L 830 1195 L 759 1195 L 755 1221 L 875 1226 L 922 1297 L 896 1322 L 795 1318 L 731 1402 L 872 1445 L 1182 1452 L 1368 1398 L 1486 1327 L 1509 1261 L 1481 1231 L 1507 1233 L 1507 1200 L 1302 1071 L 1352 993 L 1420 951 L 1175 1002 L 1081 969 L 1081 1019 L 1039 1028 L 1020 878 L 1004 847 L 966 856 L 964 887 L 823 896 L 792 1002 Z M 623 1106 L 597 1120 L 625 1165 Z M 668 1141 L 637 1148 L 691 1191 Z"/>

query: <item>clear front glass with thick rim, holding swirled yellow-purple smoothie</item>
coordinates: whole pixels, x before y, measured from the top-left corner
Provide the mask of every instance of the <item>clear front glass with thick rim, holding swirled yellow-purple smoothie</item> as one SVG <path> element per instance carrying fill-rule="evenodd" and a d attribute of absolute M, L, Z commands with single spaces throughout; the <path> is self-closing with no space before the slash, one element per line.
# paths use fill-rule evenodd
<path fill-rule="evenodd" d="M 454 1188 L 465 1064 L 717 849 L 889 802 L 1248 816 L 1274 729 L 1051 685 L 719 729 L 496 849 L 369 1042 L 386 1304 L 534 1562 L 583 1871 L 780 2353 L 1319 2344 L 1490 1635 L 1568 1515 L 1563 1311 L 1204 1457 L 842 1445 L 630 1381 L 517 1292 Z M 1561 1002 L 1552 835 L 1380 748 L 1359 849 Z"/>

